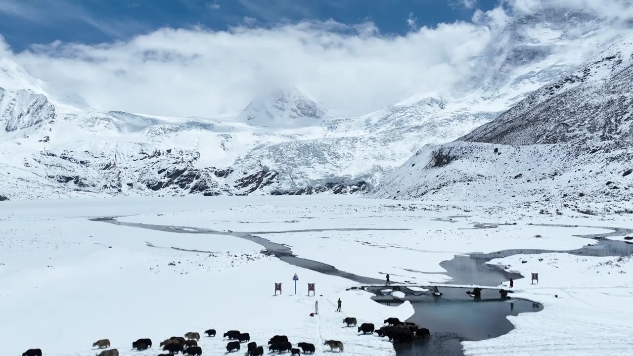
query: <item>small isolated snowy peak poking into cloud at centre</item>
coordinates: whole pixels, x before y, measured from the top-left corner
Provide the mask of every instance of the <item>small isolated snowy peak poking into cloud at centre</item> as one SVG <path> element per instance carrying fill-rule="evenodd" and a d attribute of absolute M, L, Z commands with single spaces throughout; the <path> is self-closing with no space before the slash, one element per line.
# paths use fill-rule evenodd
<path fill-rule="evenodd" d="M 257 96 L 240 118 L 251 125 L 301 127 L 319 124 L 328 109 L 296 88 Z"/>

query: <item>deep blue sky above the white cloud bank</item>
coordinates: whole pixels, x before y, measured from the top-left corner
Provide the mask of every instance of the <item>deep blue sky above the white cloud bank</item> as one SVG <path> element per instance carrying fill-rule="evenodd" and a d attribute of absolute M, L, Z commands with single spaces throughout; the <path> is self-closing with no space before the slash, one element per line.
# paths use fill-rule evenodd
<path fill-rule="evenodd" d="M 258 26 L 303 19 L 354 24 L 372 21 L 383 34 L 469 20 L 498 0 L 0 0 L 0 34 L 13 51 L 60 40 L 95 44 L 161 27 L 202 25 L 225 30 L 254 18 Z M 251 20 L 252 23 L 252 20 Z"/>

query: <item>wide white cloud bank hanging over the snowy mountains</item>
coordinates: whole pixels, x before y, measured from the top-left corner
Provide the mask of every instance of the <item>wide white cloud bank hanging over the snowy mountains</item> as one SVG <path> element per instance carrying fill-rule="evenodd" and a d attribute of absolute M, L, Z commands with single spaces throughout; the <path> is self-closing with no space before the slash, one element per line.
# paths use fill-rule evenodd
<path fill-rule="evenodd" d="M 533 0 L 505 1 L 508 11 L 530 11 L 525 6 Z M 627 9 L 617 5 L 617 14 L 590 8 L 622 18 Z M 410 19 L 417 27 L 413 14 Z M 297 86 L 342 115 L 357 115 L 415 94 L 448 91 L 460 79 L 488 71 L 480 57 L 495 51 L 495 34 L 508 20 L 496 8 L 477 11 L 472 22 L 382 35 L 372 22 L 264 28 L 245 18 L 243 26 L 226 31 L 165 28 L 127 41 L 53 42 L 22 53 L 10 53 L 0 39 L 0 55 L 8 53 L 34 77 L 68 87 L 104 110 L 232 115 L 271 87 Z"/>

